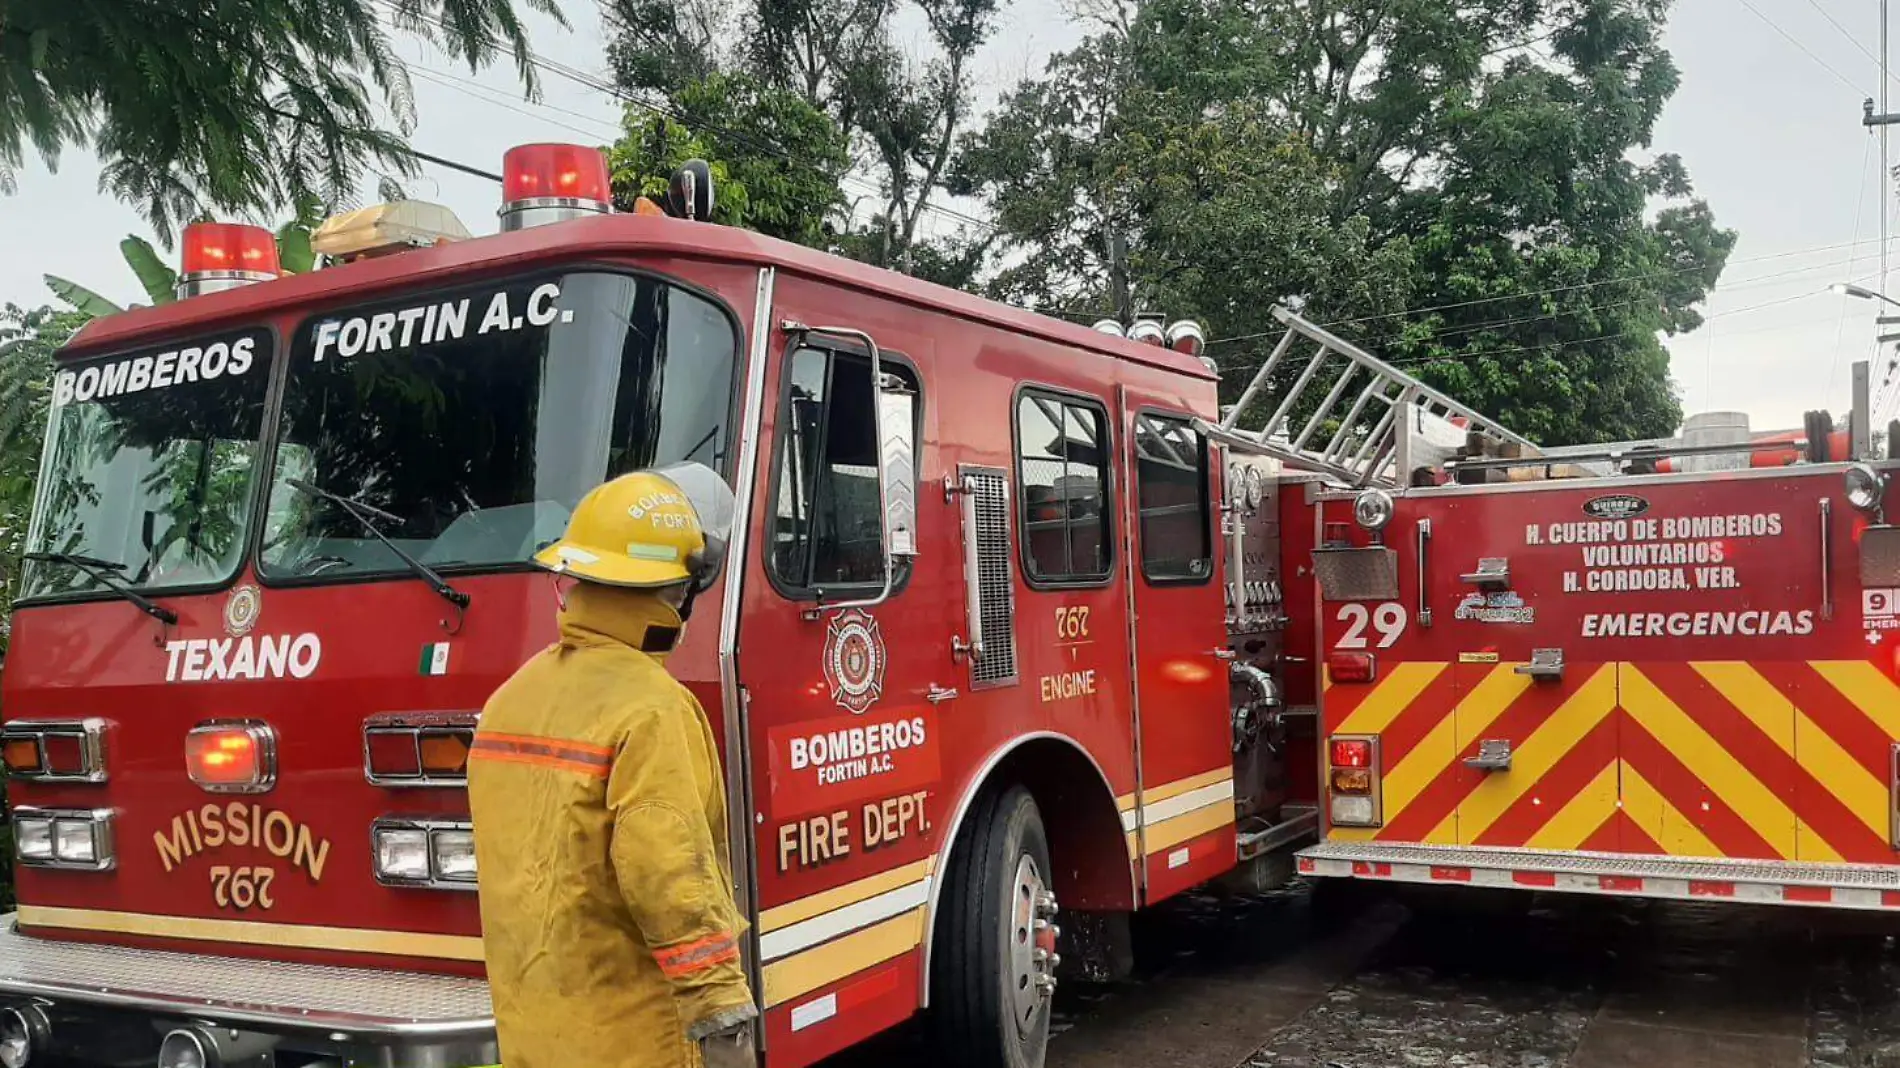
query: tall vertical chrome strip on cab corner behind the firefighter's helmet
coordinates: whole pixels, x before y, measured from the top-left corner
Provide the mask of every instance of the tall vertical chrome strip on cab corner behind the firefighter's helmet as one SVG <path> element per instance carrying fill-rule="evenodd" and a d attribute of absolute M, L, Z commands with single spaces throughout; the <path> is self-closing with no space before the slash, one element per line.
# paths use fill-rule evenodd
<path fill-rule="evenodd" d="M 758 962 L 758 880 L 752 878 L 752 747 L 750 715 L 745 688 L 739 684 L 739 610 L 745 602 L 745 557 L 752 544 L 752 502 L 758 496 L 758 445 L 766 414 L 766 363 L 771 352 L 771 293 L 777 281 L 773 268 L 758 272 L 758 293 L 752 304 L 752 346 L 745 367 L 745 403 L 739 414 L 739 464 L 733 469 L 732 528 L 726 545 L 726 589 L 720 599 L 718 677 L 720 707 L 726 726 L 726 832 L 732 859 L 733 897 L 752 927 L 750 939 L 741 939 L 741 960 L 754 998 L 762 986 Z M 766 1028 L 752 1028 L 764 1045 Z"/>

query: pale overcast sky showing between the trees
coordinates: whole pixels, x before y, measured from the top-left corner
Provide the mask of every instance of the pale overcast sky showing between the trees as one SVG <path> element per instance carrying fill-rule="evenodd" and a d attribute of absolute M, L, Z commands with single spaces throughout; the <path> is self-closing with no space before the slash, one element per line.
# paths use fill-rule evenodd
<path fill-rule="evenodd" d="M 1849 365 L 1875 355 L 1875 304 L 1826 287 L 1881 279 L 1879 148 L 1860 125 L 1860 101 L 1879 91 L 1877 8 L 1877 0 L 1678 0 L 1668 48 L 1682 89 L 1655 148 L 1680 154 L 1716 219 L 1740 232 L 1708 323 L 1668 342 L 1687 412 L 1744 410 L 1756 428 L 1799 426 L 1807 409 L 1845 410 Z M 530 23 L 536 49 L 604 72 L 593 6 L 568 0 L 566 10 L 572 32 Z M 988 93 L 1081 36 L 1058 0 L 1007 10 L 982 57 Z M 511 144 L 614 139 L 618 106 L 595 89 L 547 76 L 543 99 L 530 105 L 505 63 L 471 76 L 426 46 L 407 42 L 403 53 L 414 63 L 412 143 L 424 152 L 492 171 Z M 1890 87 L 1900 110 L 1900 76 Z M 1892 154 L 1900 158 L 1900 129 Z M 42 274 L 114 300 L 139 298 L 118 241 L 146 228 L 99 194 L 97 181 L 97 162 L 84 152 L 68 152 L 57 173 L 28 162 L 19 192 L 0 198 L 0 302 L 48 302 Z M 500 190 L 488 181 L 426 165 L 408 194 L 446 203 L 475 234 L 494 230 Z M 1894 217 L 1892 198 L 1887 211 Z M 1875 361 L 1875 386 L 1889 359 Z M 1900 382 L 1881 401 L 1887 414 L 1900 409 Z"/>

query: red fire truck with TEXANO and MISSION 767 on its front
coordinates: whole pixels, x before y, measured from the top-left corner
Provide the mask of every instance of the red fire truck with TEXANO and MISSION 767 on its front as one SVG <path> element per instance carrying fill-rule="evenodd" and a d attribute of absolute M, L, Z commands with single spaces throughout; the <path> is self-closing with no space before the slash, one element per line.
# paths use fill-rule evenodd
<path fill-rule="evenodd" d="M 1292 870 L 1311 578 L 1279 460 L 1210 443 L 1195 327 L 714 226 L 684 177 L 614 215 L 593 150 L 504 171 L 502 234 L 378 205 L 312 274 L 194 226 L 186 298 L 59 355 L 0 1064 L 494 1062 L 471 730 L 553 637 L 524 561 L 656 464 L 737 488 L 671 667 L 724 747 L 768 1064 L 929 1007 L 956 1062 L 1030 1068 L 1064 954 L 1113 973 L 1130 910 Z"/>

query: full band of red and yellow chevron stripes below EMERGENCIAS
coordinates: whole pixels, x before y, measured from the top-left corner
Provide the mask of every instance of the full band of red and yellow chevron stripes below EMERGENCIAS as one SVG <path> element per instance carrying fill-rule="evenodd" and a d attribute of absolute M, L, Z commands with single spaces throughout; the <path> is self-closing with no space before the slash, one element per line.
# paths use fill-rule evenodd
<path fill-rule="evenodd" d="M 1338 842 L 1892 863 L 1900 686 L 1864 661 L 1398 663 L 1328 684 L 1379 737 L 1378 829 Z M 1467 760 L 1488 739 L 1510 766 Z"/>

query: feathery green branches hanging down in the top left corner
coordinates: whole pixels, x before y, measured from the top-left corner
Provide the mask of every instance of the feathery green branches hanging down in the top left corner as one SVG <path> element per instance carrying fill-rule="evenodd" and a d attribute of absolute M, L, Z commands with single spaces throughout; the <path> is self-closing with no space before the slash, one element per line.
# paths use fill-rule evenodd
<path fill-rule="evenodd" d="M 555 0 L 522 6 L 560 17 Z M 32 146 L 104 162 L 101 186 L 160 239 L 205 211 L 260 217 L 346 203 L 369 167 L 407 173 L 414 118 L 390 27 L 481 68 L 513 53 L 534 93 L 513 0 L 13 0 L 0 8 L 0 190 Z M 395 129 L 378 120 L 378 105 Z"/>

